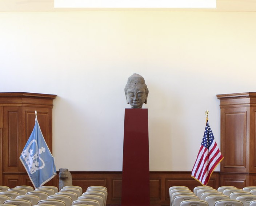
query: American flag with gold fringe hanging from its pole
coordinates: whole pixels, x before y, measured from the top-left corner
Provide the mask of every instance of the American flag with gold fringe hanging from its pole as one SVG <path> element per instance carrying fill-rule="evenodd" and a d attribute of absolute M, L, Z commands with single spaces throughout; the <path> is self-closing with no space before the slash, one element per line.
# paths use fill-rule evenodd
<path fill-rule="evenodd" d="M 223 158 L 207 119 L 203 140 L 191 176 L 201 182 L 202 185 L 207 185 L 212 172 Z"/>

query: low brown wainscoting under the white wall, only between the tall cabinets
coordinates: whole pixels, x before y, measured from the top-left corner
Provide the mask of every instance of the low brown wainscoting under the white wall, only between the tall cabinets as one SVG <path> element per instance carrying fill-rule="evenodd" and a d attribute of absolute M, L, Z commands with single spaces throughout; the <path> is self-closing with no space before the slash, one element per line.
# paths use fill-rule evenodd
<path fill-rule="evenodd" d="M 72 172 L 73 185 L 81 186 L 83 192 L 92 185 L 108 188 L 107 205 L 120 205 L 122 193 L 122 172 Z M 58 185 L 59 176 L 53 184 Z M 150 172 L 150 203 L 151 205 L 169 206 L 169 188 L 175 185 L 188 186 L 193 190 L 201 184 L 191 177 L 191 172 Z M 213 173 L 208 184 L 213 188 L 220 185 L 219 172 Z"/>

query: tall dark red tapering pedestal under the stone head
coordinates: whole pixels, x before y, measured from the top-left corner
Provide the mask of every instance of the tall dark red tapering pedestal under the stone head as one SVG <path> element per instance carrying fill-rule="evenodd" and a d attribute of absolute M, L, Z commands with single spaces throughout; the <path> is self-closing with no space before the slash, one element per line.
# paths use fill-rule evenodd
<path fill-rule="evenodd" d="M 121 206 L 149 206 L 148 109 L 125 109 Z"/>

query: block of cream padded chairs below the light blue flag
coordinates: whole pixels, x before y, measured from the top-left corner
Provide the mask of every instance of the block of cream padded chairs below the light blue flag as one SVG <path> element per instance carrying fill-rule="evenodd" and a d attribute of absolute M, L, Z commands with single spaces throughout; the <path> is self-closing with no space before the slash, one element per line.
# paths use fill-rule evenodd
<path fill-rule="evenodd" d="M 5 190 L 0 192 L 0 206 L 106 206 L 107 201 L 107 188 L 103 186 L 90 186 L 84 193 L 79 186 L 65 186 L 60 191 L 54 186 L 0 188 Z"/>

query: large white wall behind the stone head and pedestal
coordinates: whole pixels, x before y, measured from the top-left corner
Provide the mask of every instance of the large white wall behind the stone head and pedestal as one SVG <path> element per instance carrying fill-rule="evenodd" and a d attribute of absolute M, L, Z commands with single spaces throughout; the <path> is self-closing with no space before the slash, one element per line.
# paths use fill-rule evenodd
<path fill-rule="evenodd" d="M 2 12 L 0 92 L 57 94 L 57 170 L 121 171 L 124 87 L 139 73 L 150 170 L 191 171 L 207 109 L 220 146 L 216 94 L 256 92 L 255 22 L 255 12 Z"/>

